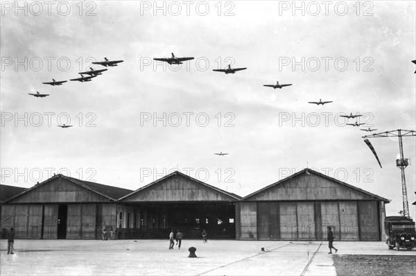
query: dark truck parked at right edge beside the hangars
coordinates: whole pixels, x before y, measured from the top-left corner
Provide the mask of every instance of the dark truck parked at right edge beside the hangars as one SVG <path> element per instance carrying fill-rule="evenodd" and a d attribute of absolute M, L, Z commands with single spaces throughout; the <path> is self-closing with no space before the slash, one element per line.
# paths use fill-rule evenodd
<path fill-rule="evenodd" d="M 415 222 L 411 218 L 404 216 L 386 216 L 384 221 L 385 235 L 387 237 L 385 243 L 388 249 L 406 248 L 412 250 L 416 248 L 416 230 Z"/>

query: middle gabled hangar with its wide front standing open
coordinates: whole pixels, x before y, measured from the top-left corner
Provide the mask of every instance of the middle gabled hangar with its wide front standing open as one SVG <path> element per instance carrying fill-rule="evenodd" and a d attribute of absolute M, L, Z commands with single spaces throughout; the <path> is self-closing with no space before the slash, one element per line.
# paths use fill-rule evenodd
<path fill-rule="evenodd" d="M 184 239 L 236 239 L 235 205 L 240 199 L 178 171 L 120 198 L 119 239 L 167 239 L 173 229 Z"/>

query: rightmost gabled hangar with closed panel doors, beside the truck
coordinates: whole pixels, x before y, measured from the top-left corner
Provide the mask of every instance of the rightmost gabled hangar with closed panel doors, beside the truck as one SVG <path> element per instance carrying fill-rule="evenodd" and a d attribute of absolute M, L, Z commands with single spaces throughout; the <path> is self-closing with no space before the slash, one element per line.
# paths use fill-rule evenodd
<path fill-rule="evenodd" d="M 236 239 L 381 241 L 390 202 L 305 169 L 243 198 L 236 205 Z"/>

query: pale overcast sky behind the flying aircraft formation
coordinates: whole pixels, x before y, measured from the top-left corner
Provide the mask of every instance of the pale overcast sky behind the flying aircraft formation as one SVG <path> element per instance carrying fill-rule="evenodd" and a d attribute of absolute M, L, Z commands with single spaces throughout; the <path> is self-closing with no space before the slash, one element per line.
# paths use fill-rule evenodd
<path fill-rule="evenodd" d="M 61 172 L 135 190 L 178 169 L 246 196 L 309 166 L 402 209 L 398 139 L 370 139 L 381 169 L 360 128 L 415 130 L 415 1 L 25 3 L 1 3 L 1 184 Z M 153 61 L 171 53 L 195 59 Z M 42 84 L 104 57 L 124 62 Z M 229 63 L 248 69 L 212 71 Z M 263 87 L 277 81 L 293 85 Z M 366 124 L 345 126 L 351 112 Z"/>

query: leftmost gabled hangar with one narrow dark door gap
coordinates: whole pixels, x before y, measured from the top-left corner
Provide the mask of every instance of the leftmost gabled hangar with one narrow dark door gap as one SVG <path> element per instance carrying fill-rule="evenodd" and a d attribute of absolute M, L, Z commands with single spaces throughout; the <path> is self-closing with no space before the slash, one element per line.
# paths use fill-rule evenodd
<path fill-rule="evenodd" d="M 116 198 L 130 193 L 94 182 L 55 175 L 7 200 L 1 228 L 17 239 L 96 239 L 116 227 Z"/>

